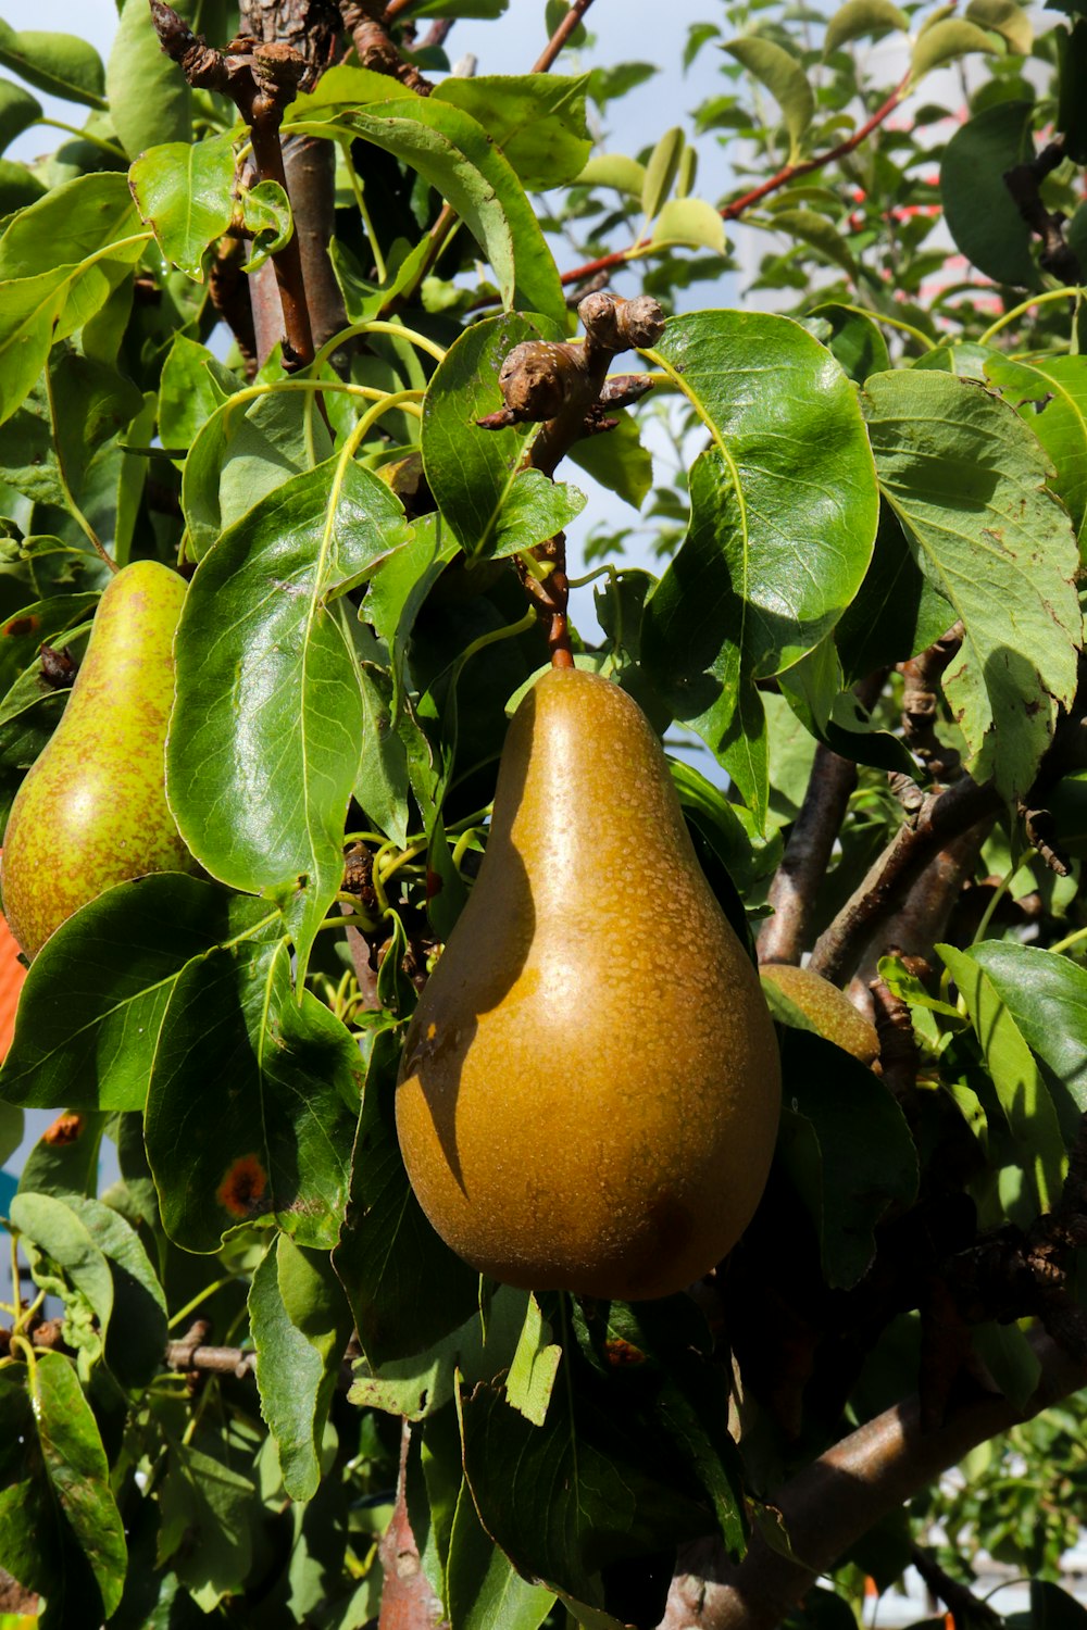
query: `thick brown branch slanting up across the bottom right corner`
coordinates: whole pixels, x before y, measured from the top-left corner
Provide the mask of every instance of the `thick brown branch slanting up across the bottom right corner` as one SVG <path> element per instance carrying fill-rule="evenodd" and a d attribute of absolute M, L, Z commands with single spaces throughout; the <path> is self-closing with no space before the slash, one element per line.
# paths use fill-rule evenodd
<path fill-rule="evenodd" d="M 955 1465 L 970 1449 L 1030 1420 L 1087 1384 L 1087 1363 L 1048 1337 L 1032 1337 L 1041 1379 L 1025 1408 L 975 1394 L 924 1433 L 918 1399 L 843 1438 L 774 1496 L 792 1545 L 782 1557 L 756 1534 L 730 1565 L 719 1542 L 683 1547 L 660 1630 L 774 1630 L 820 1573 L 882 1518 Z"/>

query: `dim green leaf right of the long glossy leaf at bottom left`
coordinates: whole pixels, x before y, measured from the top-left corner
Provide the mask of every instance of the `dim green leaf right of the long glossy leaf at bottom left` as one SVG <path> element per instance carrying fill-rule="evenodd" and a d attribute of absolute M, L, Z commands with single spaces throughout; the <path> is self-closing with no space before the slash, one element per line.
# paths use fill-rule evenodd
<path fill-rule="evenodd" d="M 171 1565 L 205 1614 L 238 1591 L 249 1573 L 254 1496 L 249 1478 L 223 1460 L 187 1443 L 169 1444 L 158 1490 L 156 1560 Z"/>

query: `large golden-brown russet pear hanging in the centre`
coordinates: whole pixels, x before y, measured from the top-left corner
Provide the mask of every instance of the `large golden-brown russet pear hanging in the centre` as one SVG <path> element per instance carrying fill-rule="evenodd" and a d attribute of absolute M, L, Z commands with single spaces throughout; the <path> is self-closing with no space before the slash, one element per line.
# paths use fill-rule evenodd
<path fill-rule="evenodd" d="M 779 1107 L 759 980 L 657 735 L 616 685 L 549 670 L 407 1032 L 396 1126 L 424 1211 L 508 1284 L 667 1296 L 746 1227 Z"/>

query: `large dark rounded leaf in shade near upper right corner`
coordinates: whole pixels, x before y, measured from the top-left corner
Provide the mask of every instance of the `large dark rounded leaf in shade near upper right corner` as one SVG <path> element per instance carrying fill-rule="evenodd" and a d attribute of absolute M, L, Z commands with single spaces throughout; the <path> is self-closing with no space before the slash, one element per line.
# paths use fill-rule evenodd
<path fill-rule="evenodd" d="M 1033 112 L 1028 101 L 997 103 L 955 130 L 940 161 L 940 197 L 947 230 L 979 272 L 1014 289 L 1038 290 L 1032 231 L 1004 186 L 1006 170 L 1035 156 Z"/>

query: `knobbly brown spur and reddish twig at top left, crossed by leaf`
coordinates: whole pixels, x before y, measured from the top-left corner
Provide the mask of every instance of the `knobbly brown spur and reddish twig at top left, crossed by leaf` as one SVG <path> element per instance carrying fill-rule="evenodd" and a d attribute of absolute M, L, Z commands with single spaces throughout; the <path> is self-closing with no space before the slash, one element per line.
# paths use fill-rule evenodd
<path fill-rule="evenodd" d="M 306 62 L 292 46 L 277 41 L 238 39 L 225 52 L 215 51 L 165 0 L 150 0 L 150 5 L 165 54 L 181 67 L 189 85 L 231 98 L 249 126 L 259 179 L 277 181 L 290 197 L 279 127 L 284 108 L 293 101 L 308 72 Z M 313 336 L 297 231 L 272 254 L 272 264 L 284 315 L 284 362 L 305 367 L 313 362 Z"/>

